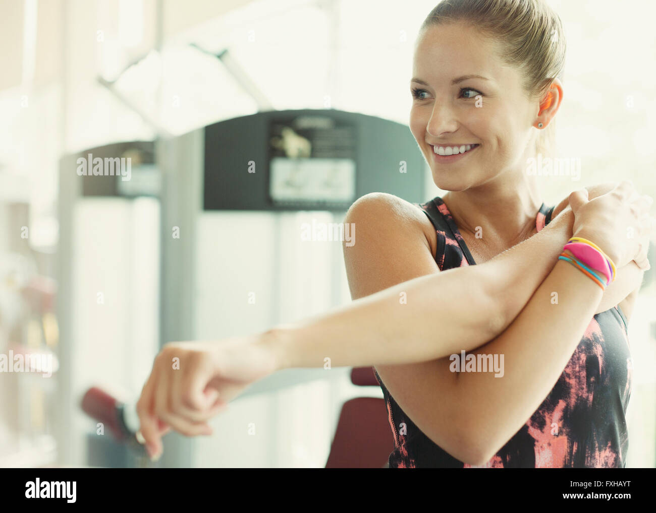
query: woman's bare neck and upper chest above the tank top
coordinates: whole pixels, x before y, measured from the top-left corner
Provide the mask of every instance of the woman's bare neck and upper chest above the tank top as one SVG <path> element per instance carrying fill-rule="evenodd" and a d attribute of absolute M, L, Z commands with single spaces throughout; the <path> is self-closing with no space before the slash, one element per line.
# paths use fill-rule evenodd
<path fill-rule="evenodd" d="M 473 189 L 449 191 L 442 199 L 460 231 L 482 235 L 486 246 L 510 248 L 531 237 L 542 200 L 533 176 L 499 176 Z"/>

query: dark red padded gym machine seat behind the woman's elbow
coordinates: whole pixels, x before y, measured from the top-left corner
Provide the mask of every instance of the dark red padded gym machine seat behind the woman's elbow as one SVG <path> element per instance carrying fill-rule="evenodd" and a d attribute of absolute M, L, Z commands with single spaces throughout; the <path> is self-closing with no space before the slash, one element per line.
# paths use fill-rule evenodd
<path fill-rule="evenodd" d="M 355 367 L 351 381 L 363 387 L 379 383 L 373 367 Z M 357 397 L 342 406 L 325 468 L 382 468 L 394 450 L 394 436 L 383 399 Z"/>

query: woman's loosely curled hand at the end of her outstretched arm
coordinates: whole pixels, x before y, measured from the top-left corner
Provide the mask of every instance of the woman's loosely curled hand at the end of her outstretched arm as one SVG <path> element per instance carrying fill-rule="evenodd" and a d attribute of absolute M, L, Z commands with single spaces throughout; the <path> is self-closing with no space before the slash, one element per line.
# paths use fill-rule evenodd
<path fill-rule="evenodd" d="M 136 409 L 152 459 L 171 428 L 196 436 L 212 434 L 207 423 L 248 386 L 278 370 L 276 354 L 263 335 L 223 341 L 172 342 L 155 357 Z"/>

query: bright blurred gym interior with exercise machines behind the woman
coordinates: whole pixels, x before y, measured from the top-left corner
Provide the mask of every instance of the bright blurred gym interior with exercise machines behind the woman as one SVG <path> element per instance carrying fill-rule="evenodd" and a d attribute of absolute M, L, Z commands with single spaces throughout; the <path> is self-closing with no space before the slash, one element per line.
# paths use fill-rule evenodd
<path fill-rule="evenodd" d="M 81 401 L 136 400 L 168 341 L 350 302 L 342 242 L 302 234 L 369 192 L 440 195 L 407 126 L 435 3 L 0 0 L 0 353 L 52 362 L 0 373 L 0 466 L 323 467 L 344 404 L 373 408 L 385 463 L 382 393 L 350 369 L 260 381 L 214 436 L 167 435 L 157 464 Z M 550 4 L 567 37 L 556 149 L 578 172 L 539 177 L 544 201 L 621 179 L 656 196 L 656 5 Z M 630 322 L 628 466 L 656 465 L 653 273 Z"/>

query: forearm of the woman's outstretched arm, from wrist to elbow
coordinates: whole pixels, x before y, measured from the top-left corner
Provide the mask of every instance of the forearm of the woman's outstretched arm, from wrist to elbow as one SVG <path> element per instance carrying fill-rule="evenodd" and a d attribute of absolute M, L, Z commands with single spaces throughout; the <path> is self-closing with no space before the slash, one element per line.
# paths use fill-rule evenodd
<path fill-rule="evenodd" d="M 262 333 L 277 368 L 403 364 L 478 347 L 499 332 L 482 266 L 419 276 L 346 306 Z M 466 305 L 466 307 L 463 307 Z"/>

